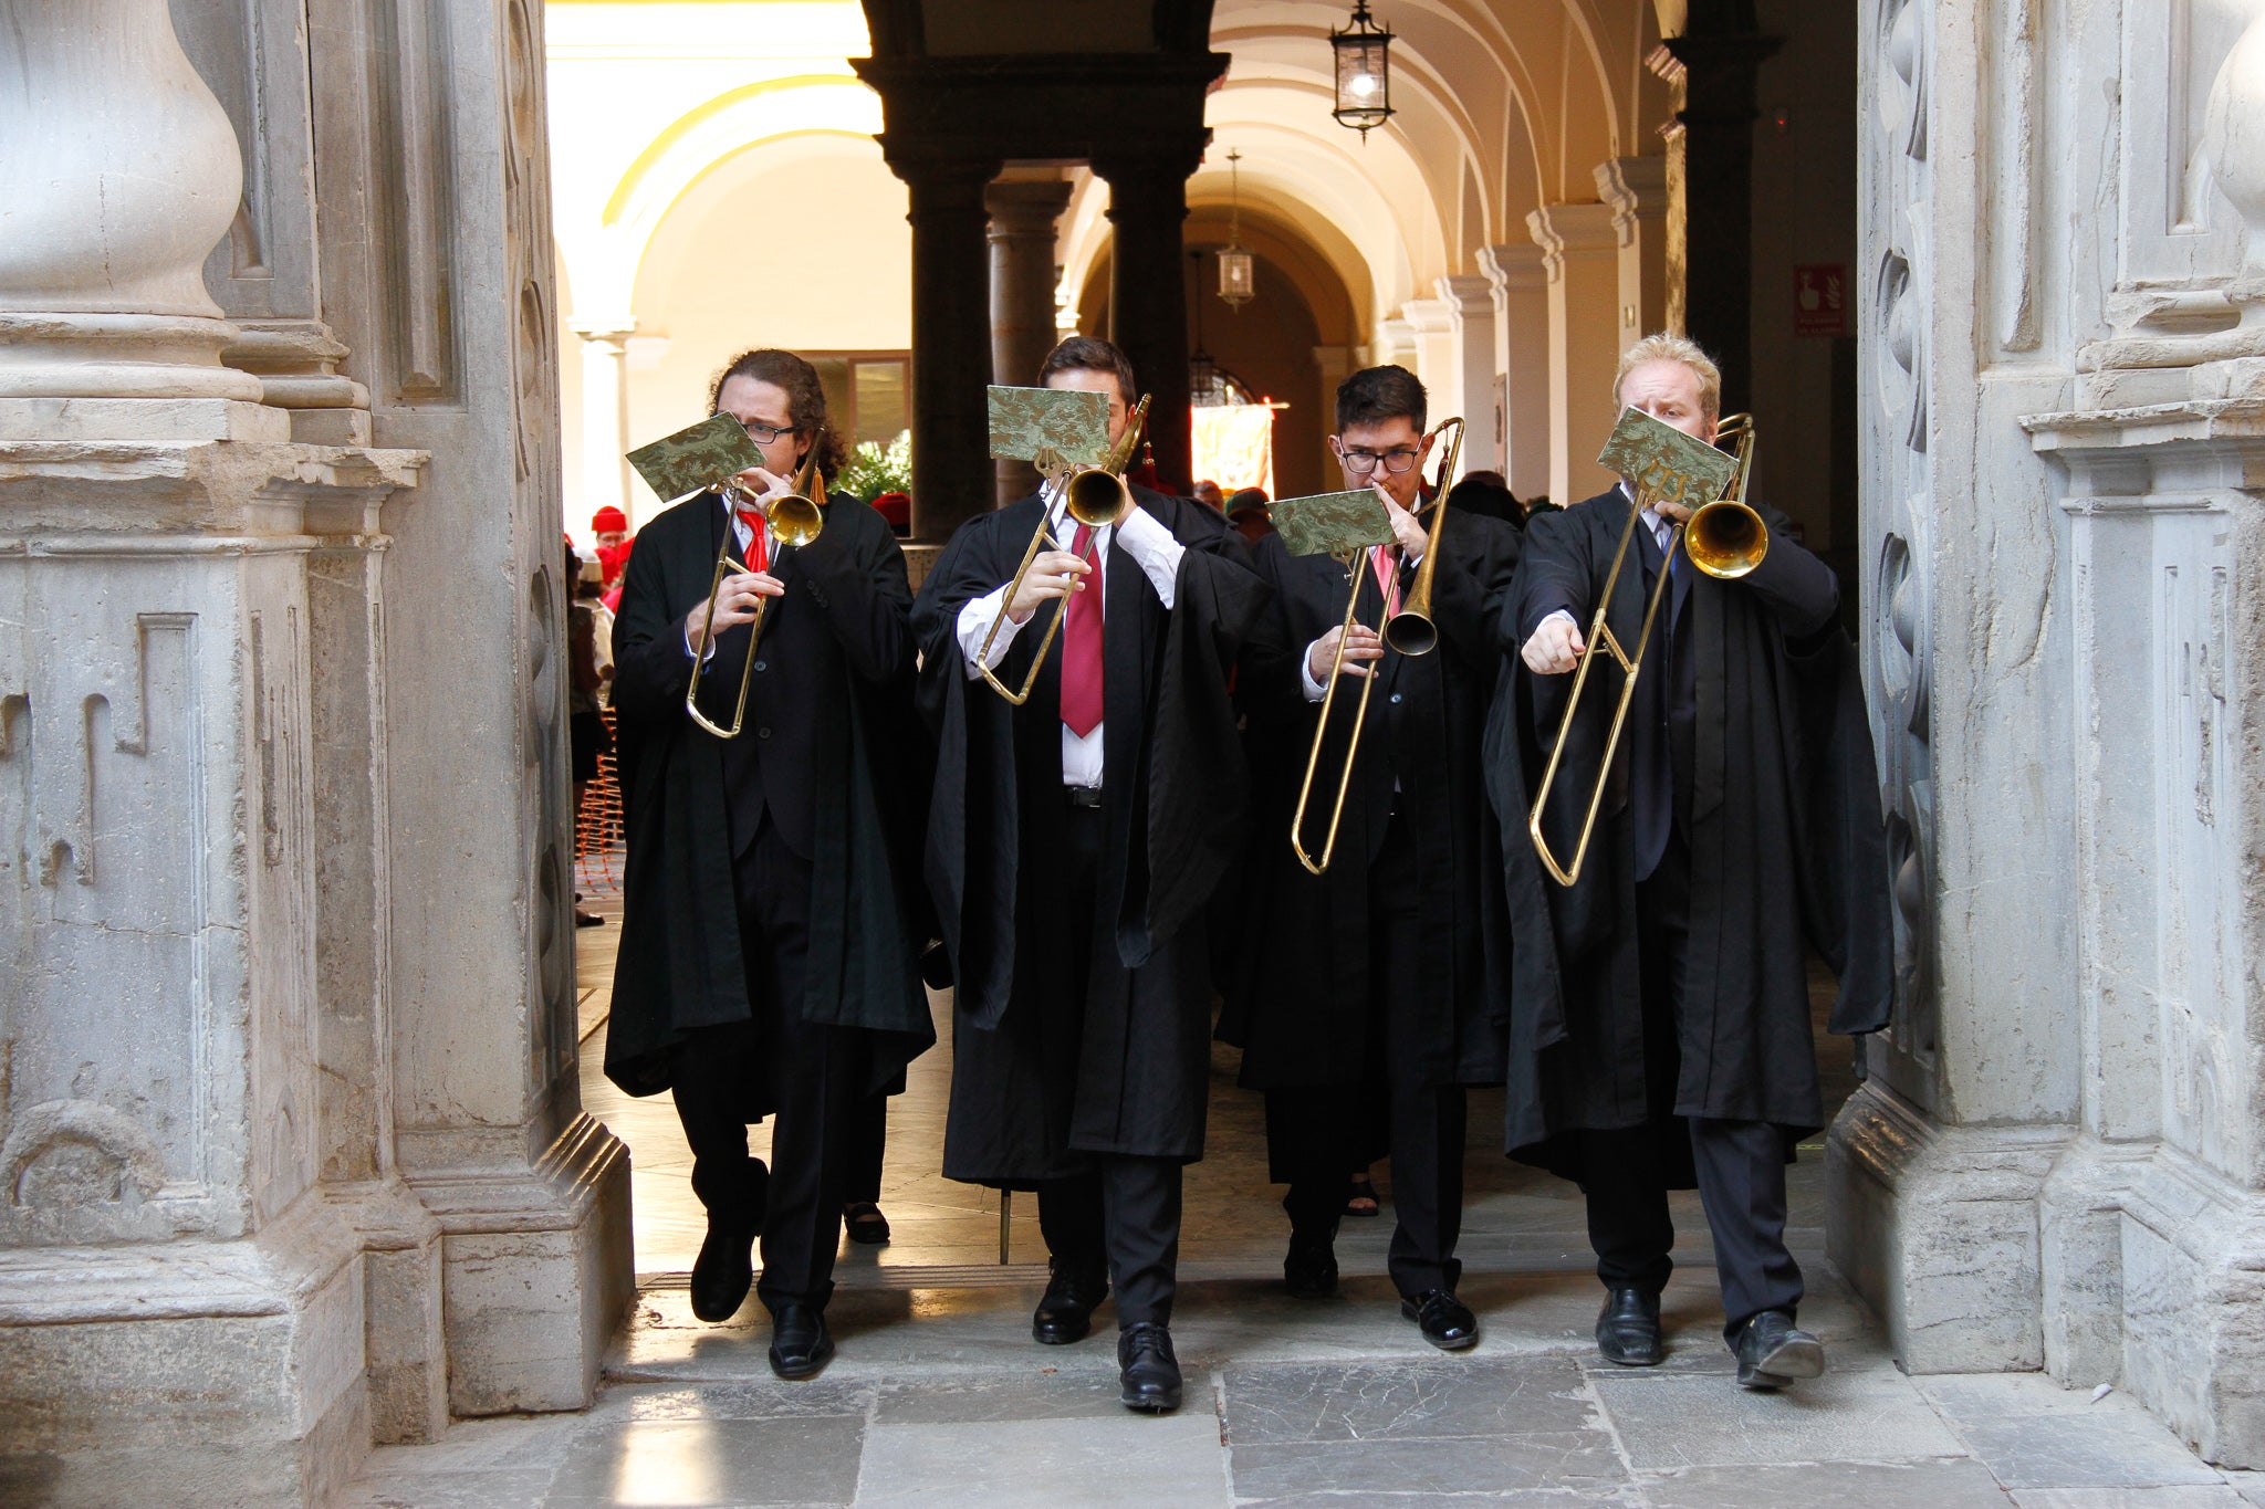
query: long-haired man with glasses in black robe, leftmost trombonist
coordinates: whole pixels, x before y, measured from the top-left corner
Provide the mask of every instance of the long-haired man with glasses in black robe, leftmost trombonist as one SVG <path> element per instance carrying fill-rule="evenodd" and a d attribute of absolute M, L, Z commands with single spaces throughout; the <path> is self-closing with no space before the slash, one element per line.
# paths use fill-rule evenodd
<path fill-rule="evenodd" d="M 917 803 L 911 586 L 881 516 L 836 495 L 818 538 L 781 545 L 770 502 L 824 430 L 809 362 L 752 351 L 713 396 L 763 466 L 743 493 L 698 493 L 639 534 L 614 627 L 614 708 L 627 876 L 605 1072 L 630 1095 L 675 1093 L 707 1240 L 693 1312 L 729 1319 L 761 1233 L 770 1366 L 809 1378 L 834 1342 L 845 1188 L 870 1093 L 933 1041 L 917 980 Z M 709 643 L 709 581 L 729 532 Z M 761 640 L 754 609 L 766 602 Z M 707 647 L 700 708 L 684 692 Z M 747 1122 L 775 1115 L 770 1167 Z"/>

